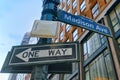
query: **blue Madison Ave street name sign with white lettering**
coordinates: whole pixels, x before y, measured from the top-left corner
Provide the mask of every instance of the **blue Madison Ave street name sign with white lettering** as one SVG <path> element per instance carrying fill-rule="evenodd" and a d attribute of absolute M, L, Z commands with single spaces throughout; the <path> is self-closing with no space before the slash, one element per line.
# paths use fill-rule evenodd
<path fill-rule="evenodd" d="M 110 30 L 108 27 L 98 24 L 95 21 L 83 17 L 83 16 L 76 16 L 76 15 L 72 15 L 70 13 L 67 13 L 65 11 L 62 10 L 58 10 L 58 20 L 67 24 L 71 24 L 74 26 L 78 26 L 81 28 L 85 28 L 106 36 L 111 36 Z"/>

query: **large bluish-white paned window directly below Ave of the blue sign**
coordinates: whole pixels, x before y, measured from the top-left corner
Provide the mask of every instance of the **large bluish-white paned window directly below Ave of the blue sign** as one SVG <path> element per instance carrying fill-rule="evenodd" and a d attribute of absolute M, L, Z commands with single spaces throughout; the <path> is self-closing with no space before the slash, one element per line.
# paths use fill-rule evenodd
<path fill-rule="evenodd" d="M 90 57 L 102 44 L 105 43 L 103 35 L 94 33 L 83 43 L 84 60 Z"/>

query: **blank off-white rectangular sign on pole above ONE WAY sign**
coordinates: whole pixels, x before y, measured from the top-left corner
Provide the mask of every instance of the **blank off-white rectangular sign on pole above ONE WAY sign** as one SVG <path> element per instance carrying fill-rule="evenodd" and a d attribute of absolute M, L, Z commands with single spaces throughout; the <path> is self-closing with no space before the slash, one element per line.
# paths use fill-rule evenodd
<path fill-rule="evenodd" d="M 35 20 L 30 34 L 33 37 L 55 38 L 58 27 L 59 22 L 57 21 Z"/>

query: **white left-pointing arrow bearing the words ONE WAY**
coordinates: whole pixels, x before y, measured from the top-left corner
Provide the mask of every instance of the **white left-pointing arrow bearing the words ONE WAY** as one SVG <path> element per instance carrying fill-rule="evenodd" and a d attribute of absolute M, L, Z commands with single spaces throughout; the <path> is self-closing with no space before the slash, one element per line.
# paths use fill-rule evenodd
<path fill-rule="evenodd" d="M 63 49 L 49 49 L 49 50 L 27 50 L 19 53 L 16 57 L 20 58 L 23 61 L 28 62 L 30 58 L 40 58 L 40 57 L 55 57 L 55 56 L 66 56 L 72 55 L 72 48 L 63 48 Z"/>

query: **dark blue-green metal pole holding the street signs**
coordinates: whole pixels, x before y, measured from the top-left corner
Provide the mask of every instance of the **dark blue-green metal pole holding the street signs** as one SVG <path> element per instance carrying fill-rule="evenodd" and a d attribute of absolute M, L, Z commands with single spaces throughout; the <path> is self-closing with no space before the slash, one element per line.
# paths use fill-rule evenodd
<path fill-rule="evenodd" d="M 59 0 L 43 0 L 43 11 L 41 20 L 54 21 L 57 18 L 57 5 L 60 3 Z M 40 38 L 39 44 L 51 43 L 51 38 Z M 43 53 L 44 54 L 44 53 Z M 32 71 L 31 80 L 48 80 L 48 65 L 35 66 Z"/>

